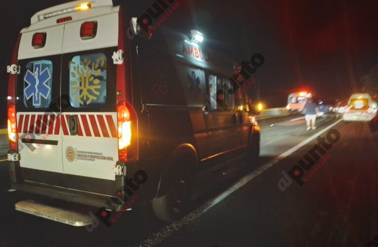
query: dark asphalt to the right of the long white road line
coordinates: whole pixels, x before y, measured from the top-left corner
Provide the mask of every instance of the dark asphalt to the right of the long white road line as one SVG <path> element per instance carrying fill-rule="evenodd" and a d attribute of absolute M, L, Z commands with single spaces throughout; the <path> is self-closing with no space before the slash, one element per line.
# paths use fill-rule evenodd
<path fill-rule="evenodd" d="M 366 246 L 378 235 L 378 136 L 365 123 L 334 128 L 341 137 L 328 151 L 332 158 L 302 186 L 293 182 L 282 192 L 278 181 L 316 141 L 175 231 L 160 246 Z M 294 133 L 306 134 L 300 129 Z"/>

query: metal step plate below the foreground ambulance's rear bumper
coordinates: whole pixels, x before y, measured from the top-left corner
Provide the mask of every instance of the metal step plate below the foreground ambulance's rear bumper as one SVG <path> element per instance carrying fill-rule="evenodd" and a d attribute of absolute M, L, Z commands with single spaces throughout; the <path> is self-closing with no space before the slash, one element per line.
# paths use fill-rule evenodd
<path fill-rule="evenodd" d="M 14 205 L 17 211 L 33 214 L 45 219 L 57 221 L 71 226 L 86 226 L 93 223 L 89 215 L 48 206 L 34 201 L 21 201 Z"/>

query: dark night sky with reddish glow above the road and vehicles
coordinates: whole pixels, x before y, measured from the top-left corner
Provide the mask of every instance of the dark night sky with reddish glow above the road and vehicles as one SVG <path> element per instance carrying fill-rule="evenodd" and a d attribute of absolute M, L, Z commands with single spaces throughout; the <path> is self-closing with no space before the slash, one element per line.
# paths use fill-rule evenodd
<path fill-rule="evenodd" d="M 6 124 L 6 65 L 19 31 L 35 12 L 62 2 L 68 1 L 3 1 L 0 125 Z M 145 2 L 146 8 L 153 3 Z M 191 0 L 190 7 L 207 45 L 239 63 L 264 55 L 254 76 L 268 107 L 285 106 L 287 95 L 302 89 L 325 100 L 348 98 L 378 64 L 377 0 Z"/>

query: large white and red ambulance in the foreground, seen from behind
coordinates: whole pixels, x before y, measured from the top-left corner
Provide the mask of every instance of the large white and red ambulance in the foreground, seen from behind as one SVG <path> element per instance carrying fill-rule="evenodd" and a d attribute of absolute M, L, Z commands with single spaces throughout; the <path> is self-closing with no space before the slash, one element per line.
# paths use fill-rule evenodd
<path fill-rule="evenodd" d="M 205 45 L 185 1 L 159 3 L 160 13 L 158 3 L 78 0 L 32 16 L 7 67 L 12 190 L 120 211 L 131 179 L 138 204 L 172 221 L 190 208 L 198 179 L 258 157 L 247 93 L 227 109 L 217 102 L 234 99 L 216 95 L 234 62 Z M 148 176 L 142 185 L 137 171 Z M 27 199 L 16 210 L 91 224 Z"/>

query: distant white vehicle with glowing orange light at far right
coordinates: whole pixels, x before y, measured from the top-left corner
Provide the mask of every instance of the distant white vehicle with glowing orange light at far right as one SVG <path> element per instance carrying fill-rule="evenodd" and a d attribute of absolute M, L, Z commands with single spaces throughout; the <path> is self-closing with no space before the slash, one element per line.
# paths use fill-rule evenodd
<path fill-rule="evenodd" d="M 346 122 L 369 122 L 377 115 L 377 102 L 368 93 L 352 94 L 342 116 Z"/>

